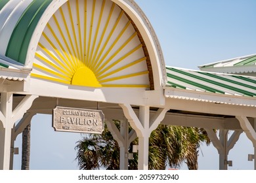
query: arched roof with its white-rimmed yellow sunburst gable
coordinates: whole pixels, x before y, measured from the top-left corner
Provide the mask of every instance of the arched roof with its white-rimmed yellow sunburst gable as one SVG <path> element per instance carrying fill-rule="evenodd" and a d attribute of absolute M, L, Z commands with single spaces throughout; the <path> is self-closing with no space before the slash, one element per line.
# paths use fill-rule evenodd
<path fill-rule="evenodd" d="M 160 89 L 165 64 L 154 30 L 136 3 L 113 2 L 1 1 L 0 55 L 43 80 Z M 77 79 L 85 72 L 95 82 Z"/>

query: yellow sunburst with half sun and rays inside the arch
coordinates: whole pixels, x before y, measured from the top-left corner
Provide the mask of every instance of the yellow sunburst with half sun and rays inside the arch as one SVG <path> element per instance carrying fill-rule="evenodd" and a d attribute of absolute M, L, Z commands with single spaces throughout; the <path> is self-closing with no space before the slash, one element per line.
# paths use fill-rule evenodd
<path fill-rule="evenodd" d="M 41 35 L 32 76 L 95 88 L 149 88 L 137 32 L 110 0 L 70 0 L 62 5 Z"/>

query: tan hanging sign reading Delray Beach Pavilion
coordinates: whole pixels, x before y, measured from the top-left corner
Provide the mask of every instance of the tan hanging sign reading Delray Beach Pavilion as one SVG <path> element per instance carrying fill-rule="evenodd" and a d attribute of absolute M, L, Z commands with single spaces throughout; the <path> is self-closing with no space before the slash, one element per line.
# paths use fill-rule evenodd
<path fill-rule="evenodd" d="M 56 107 L 53 109 L 55 131 L 78 133 L 102 133 L 104 114 L 102 110 Z"/>

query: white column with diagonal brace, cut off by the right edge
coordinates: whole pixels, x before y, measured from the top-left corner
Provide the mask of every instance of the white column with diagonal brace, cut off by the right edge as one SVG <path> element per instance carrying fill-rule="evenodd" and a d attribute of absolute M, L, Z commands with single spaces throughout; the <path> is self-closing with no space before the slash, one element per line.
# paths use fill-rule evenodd
<path fill-rule="evenodd" d="M 240 122 L 242 129 L 244 130 L 248 139 L 253 143 L 254 148 L 254 169 L 256 170 L 255 153 L 256 153 L 256 120 L 254 119 L 254 124 L 251 125 L 246 116 L 236 116 L 236 119 Z"/>

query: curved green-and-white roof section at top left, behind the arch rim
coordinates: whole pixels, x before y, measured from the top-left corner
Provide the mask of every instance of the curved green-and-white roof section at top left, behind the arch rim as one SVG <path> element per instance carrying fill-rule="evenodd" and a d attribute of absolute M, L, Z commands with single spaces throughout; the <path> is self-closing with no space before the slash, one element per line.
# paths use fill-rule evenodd
<path fill-rule="evenodd" d="M 1 56 L 25 63 L 33 31 L 52 1 L 0 1 Z"/>

